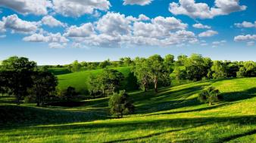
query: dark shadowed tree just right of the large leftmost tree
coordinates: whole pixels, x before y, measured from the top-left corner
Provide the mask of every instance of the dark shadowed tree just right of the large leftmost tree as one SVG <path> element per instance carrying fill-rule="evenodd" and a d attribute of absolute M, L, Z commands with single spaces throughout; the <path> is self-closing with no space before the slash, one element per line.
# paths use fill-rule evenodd
<path fill-rule="evenodd" d="M 41 106 L 44 100 L 55 93 L 58 79 L 48 71 L 36 71 L 32 75 L 33 87 L 30 94 L 36 96 L 36 105 Z"/>

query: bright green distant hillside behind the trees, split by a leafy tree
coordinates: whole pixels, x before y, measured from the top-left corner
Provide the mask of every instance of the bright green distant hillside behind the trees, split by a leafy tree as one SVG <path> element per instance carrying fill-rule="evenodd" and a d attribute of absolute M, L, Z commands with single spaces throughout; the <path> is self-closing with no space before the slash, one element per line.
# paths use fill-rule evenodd
<path fill-rule="evenodd" d="M 136 80 L 133 74 L 130 72 L 130 67 L 120 67 L 114 68 L 122 72 L 125 80 L 122 83 L 122 88 L 125 90 L 134 90 L 136 89 Z M 97 69 L 92 71 L 80 71 L 74 72 L 66 75 L 58 75 L 58 88 L 67 89 L 67 87 L 75 87 L 76 91 L 86 94 L 88 91 L 88 80 L 90 75 L 98 75 L 102 72 L 103 69 Z"/>

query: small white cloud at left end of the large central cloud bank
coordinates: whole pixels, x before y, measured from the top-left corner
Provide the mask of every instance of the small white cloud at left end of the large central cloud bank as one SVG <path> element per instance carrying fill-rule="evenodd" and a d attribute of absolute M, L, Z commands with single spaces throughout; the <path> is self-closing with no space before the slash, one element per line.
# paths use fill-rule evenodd
<path fill-rule="evenodd" d="M 68 37 L 89 37 L 92 34 L 94 34 L 92 23 L 85 23 L 80 27 L 70 26 L 64 35 Z"/>

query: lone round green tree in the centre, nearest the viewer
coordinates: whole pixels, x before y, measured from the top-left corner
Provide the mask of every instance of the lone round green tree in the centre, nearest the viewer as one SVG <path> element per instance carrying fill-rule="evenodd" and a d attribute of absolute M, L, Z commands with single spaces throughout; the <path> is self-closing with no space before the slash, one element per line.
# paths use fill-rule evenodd
<path fill-rule="evenodd" d="M 130 101 L 129 95 L 121 90 L 119 93 L 114 93 L 108 102 L 110 112 L 118 118 L 123 117 L 123 114 L 133 113 L 135 107 Z"/>

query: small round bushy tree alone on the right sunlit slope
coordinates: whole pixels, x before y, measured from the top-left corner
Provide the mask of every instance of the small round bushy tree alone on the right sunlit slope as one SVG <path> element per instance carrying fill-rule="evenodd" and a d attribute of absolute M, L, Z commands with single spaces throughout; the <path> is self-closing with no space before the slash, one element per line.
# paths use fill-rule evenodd
<path fill-rule="evenodd" d="M 209 87 L 206 90 L 201 91 L 198 96 L 200 102 L 208 103 L 212 105 L 214 102 L 220 101 L 223 97 L 220 95 L 220 91 L 214 87 Z"/>

